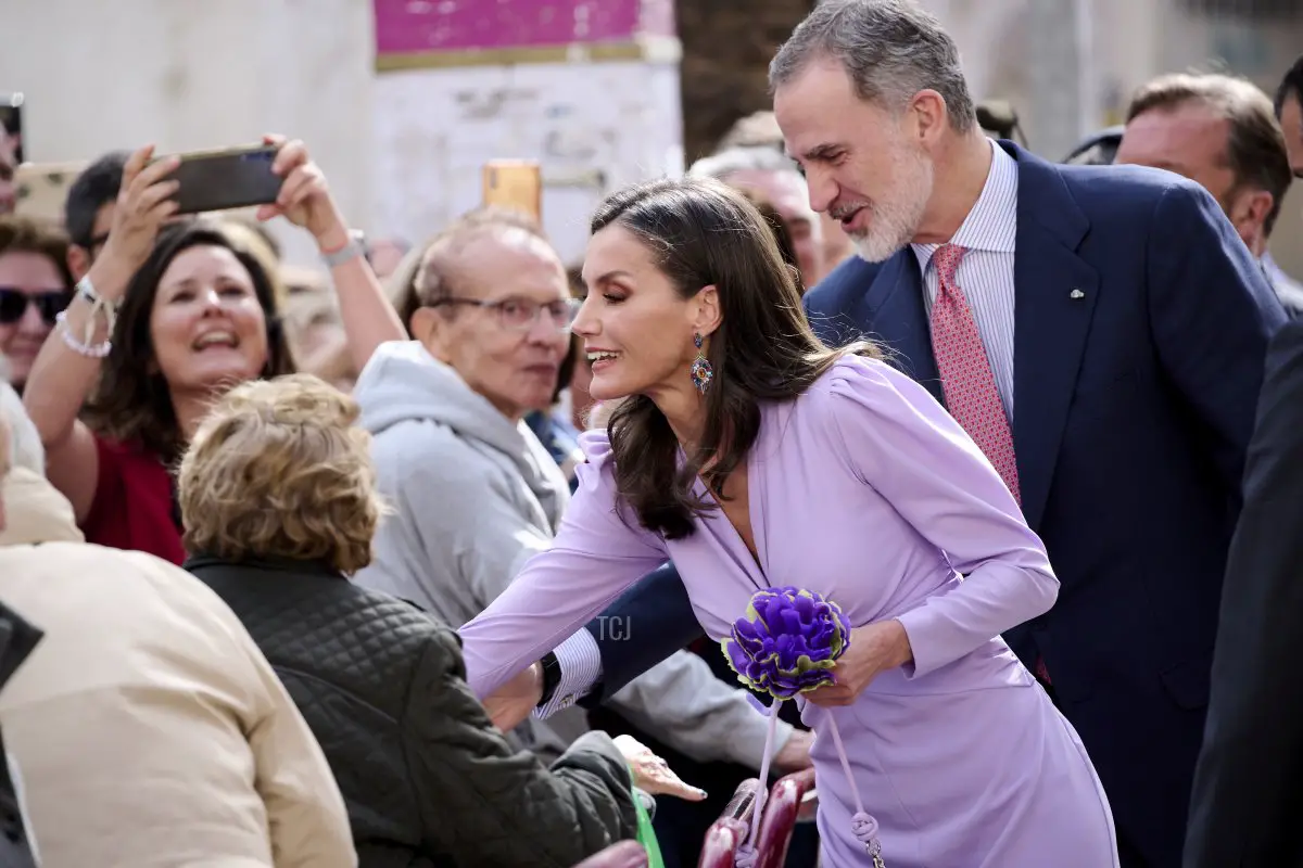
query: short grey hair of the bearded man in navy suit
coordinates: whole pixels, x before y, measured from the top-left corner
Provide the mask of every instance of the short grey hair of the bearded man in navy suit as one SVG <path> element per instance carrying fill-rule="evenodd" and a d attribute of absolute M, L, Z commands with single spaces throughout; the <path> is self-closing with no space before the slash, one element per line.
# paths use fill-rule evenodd
<path fill-rule="evenodd" d="M 769 64 L 770 87 L 820 59 L 838 61 L 865 102 L 904 108 L 919 91 L 934 90 L 954 130 L 977 122 L 955 40 L 915 0 L 822 0 Z"/>

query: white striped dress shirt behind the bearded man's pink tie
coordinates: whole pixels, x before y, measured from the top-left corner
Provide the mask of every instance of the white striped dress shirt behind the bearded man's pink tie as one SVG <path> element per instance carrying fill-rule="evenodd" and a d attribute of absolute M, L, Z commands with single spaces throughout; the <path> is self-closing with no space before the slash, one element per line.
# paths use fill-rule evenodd
<path fill-rule="evenodd" d="M 968 252 L 959 262 L 955 282 L 968 299 L 995 390 L 1005 414 L 1014 419 L 1014 247 L 1018 238 L 1018 163 L 1005 148 L 990 143 L 986 183 L 973 210 L 950 243 Z M 909 245 L 923 272 L 928 316 L 937 299 L 939 278 L 932 254 L 941 245 Z"/>

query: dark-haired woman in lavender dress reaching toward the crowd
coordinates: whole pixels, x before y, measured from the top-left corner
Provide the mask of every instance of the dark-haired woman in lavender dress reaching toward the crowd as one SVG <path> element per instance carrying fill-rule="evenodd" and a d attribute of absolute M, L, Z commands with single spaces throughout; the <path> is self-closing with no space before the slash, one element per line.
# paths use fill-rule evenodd
<path fill-rule="evenodd" d="M 581 440 L 554 547 L 463 627 L 477 692 L 667 557 L 715 639 L 758 588 L 818 591 L 855 627 L 804 707 L 826 864 L 870 864 L 831 718 L 889 868 L 1117 865 L 1081 742 L 999 638 L 1058 580 L 959 424 L 870 345 L 822 346 L 767 226 L 715 182 L 609 198 L 584 280 L 592 393 L 623 401 Z"/>

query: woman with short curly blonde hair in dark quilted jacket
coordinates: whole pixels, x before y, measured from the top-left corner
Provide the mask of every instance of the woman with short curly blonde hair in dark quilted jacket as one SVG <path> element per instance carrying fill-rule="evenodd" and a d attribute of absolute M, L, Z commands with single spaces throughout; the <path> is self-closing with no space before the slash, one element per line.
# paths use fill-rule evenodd
<path fill-rule="evenodd" d="M 358 587 L 382 504 L 354 401 L 291 375 L 236 387 L 179 475 L 186 562 L 240 617 L 321 742 L 361 868 L 573 865 L 636 832 L 636 742 L 588 733 L 551 769 L 465 683 L 456 634 Z M 653 757 L 654 759 L 654 757 Z"/>

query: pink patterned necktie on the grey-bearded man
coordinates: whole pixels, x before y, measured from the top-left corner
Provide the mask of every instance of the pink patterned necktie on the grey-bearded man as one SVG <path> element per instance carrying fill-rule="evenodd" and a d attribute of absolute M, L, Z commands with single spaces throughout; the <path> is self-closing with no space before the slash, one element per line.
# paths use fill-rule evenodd
<path fill-rule="evenodd" d="M 966 252 L 963 247 L 942 245 L 933 254 L 939 286 L 937 301 L 932 306 L 932 351 L 937 357 L 946 409 L 973 439 L 1014 493 L 1014 500 L 1022 505 L 1014 435 L 1005 416 L 1005 406 L 999 402 L 995 376 L 990 371 L 977 321 L 968 307 L 968 299 L 955 282 L 959 260 Z"/>

